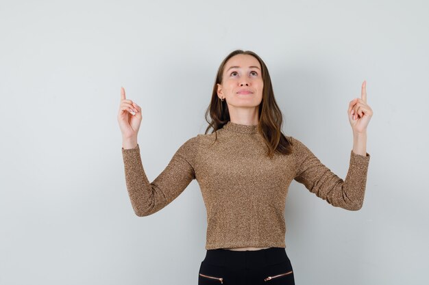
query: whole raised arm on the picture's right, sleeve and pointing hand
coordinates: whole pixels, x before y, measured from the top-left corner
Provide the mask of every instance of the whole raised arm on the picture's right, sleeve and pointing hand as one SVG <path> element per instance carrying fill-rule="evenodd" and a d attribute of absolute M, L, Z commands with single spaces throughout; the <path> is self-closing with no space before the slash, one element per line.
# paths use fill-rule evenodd
<path fill-rule="evenodd" d="M 366 133 L 372 115 L 373 111 L 367 104 L 367 81 L 363 81 L 360 98 L 351 100 L 347 109 L 354 139 L 345 180 L 323 165 L 301 141 L 291 137 L 296 169 L 295 180 L 332 206 L 350 211 L 362 208 L 370 158 L 366 151 Z"/>

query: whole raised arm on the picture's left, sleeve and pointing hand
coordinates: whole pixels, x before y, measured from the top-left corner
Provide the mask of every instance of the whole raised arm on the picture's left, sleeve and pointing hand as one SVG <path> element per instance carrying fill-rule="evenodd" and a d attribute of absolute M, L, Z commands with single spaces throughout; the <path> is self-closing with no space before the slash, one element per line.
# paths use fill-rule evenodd
<path fill-rule="evenodd" d="M 125 182 L 132 208 L 139 217 L 160 211 L 184 191 L 195 178 L 193 159 L 197 152 L 195 144 L 197 137 L 192 137 L 175 152 L 164 171 L 153 182 L 149 182 L 137 143 L 141 120 L 140 106 L 127 99 L 125 89 L 121 87 L 118 122 L 123 139 Z"/>

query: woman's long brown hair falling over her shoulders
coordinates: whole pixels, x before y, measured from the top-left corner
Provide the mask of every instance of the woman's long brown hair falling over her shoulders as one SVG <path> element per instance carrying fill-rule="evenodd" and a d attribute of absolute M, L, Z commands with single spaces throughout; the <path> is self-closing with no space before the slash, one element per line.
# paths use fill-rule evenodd
<path fill-rule="evenodd" d="M 227 55 L 227 57 L 223 59 L 223 62 L 221 62 L 221 65 L 217 70 L 215 85 L 213 85 L 210 105 L 206 110 L 205 118 L 209 125 L 206 128 L 205 134 L 208 133 L 210 128 L 213 128 L 212 133 L 215 132 L 216 141 L 216 131 L 230 121 L 230 111 L 228 110 L 226 100 L 221 101 L 219 96 L 217 96 L 217 83 L 222 83 L 223 69 L 225 68 L 225 64 L 226 62 L 228 62 L 228 59 L 230 59 L 234 55 L 252 55 L 256 59 L 258 59 L 258 62 L 260 63 L 264 87 L 262 89 L 262 101 L 259 105 L 258 110 L 258 131 L 265 139 L 265 144 L 267 144 L 267 156 L 272 158 L 274 152 L 278 152 L 280 154 L 290 154 L 292 152 L 291 141 L 289 141 L 289 139 L 287 139 L 282 133 L 282 111 L 280 111 L 280 108 L 275 102 L 273 86 L 271 85 L 271 78 L 269 77 L 268 68 L 262 61 L 262 59 L 253 51 L 243 51 L 241 49 L 237 49 L 236 51 L 232 51 L 232 53 Z"/>

